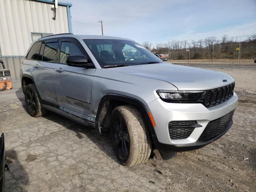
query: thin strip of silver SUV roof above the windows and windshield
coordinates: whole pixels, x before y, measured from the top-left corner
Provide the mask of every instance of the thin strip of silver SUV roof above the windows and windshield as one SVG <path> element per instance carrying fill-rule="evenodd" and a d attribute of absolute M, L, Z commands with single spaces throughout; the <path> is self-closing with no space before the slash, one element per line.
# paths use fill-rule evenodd
<path fill-rule="evenodd" d="M 47 40 L 52 38 L 60 38 L 60 37 L 73 37 L 76 39 L 118 39 L 118 40 L 131 40 L 127 38 L 114 37 L 114 36 L 106 36 L 106 35 L 74 35 L 74 34 L 56 34 L 51 36 L 46 36 L 40 38 L 40 40 Z"/>

